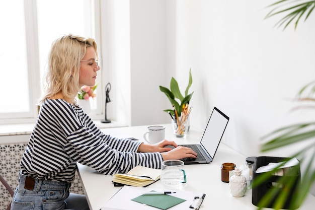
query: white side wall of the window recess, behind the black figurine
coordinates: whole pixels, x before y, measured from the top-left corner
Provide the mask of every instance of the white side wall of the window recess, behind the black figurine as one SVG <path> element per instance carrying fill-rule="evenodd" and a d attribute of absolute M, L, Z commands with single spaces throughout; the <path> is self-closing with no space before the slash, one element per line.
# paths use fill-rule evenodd
<path fill-rule="evenodd" d="M 129 1 L 100 1 L 102 83 L 111 84 L 107 119 L 131 124 Z"/>

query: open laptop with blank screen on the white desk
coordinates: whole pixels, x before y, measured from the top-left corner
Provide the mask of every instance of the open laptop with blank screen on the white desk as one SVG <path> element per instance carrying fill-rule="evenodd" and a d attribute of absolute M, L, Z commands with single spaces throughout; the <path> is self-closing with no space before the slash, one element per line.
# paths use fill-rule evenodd
<path fill-rule="evenodd" d="M 202 135 L 200 144 L 182 145 L 184 147 L 192 148 L 197 153 L 197 159 L 182 159 L 184 164 L 211 163 L 221 142 L 228 120 L 228 116 L 218 108 L 214 107 L 206 129 Z"/>

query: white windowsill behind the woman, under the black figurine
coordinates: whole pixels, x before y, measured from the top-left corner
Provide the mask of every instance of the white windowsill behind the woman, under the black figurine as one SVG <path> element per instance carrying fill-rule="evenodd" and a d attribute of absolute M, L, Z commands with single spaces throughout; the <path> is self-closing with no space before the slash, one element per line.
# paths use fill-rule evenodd
<path fill-rule="evenodd" d="M 124 127 L 121 123 L 112 121 L 110 123 L 102 123 L 100 120 L 95 120 L 94 123 L 100 129 L 110 127 Z M 28 135 L 31 134 L 35 123 L 23 123 L 23 124 L 6 124 L 0 125 L 0 136 L 7 135 Z"/>

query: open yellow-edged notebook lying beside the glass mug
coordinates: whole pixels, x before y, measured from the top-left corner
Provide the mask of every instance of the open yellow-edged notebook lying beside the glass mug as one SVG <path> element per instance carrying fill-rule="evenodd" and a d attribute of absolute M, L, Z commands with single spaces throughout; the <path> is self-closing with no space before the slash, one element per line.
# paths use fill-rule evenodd
<path fill-rule="evenodd" d="M 144 187 L 160 179 L 161 169 L 136 166 L 126 174 L 114 174 L 114 183 Z"/>

